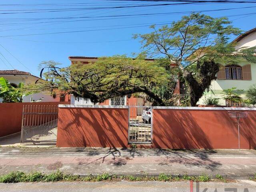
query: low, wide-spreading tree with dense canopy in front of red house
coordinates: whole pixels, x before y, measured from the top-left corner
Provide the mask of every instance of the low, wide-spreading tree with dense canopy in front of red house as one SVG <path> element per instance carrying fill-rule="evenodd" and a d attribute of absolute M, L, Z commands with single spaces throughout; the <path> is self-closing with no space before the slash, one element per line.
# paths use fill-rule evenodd
<path fill-rule="evenodd" d="M 174 78 L 171 71 L 166 70 L 164 62 L 114 56 L 98 58 L 89 64 L 74 63 L 66 68 L 60 68 L 53 61 L 42 62 L 40 67 L 45 80 L 27 87 L 29 93 L 47 90 L 51 94 L 66 92 L 94 103 L 116 96 L 143 93 L 154 105 L 175 102 L 171 100 Z M 168 95 L 161 90 L 168 92 Z"/>

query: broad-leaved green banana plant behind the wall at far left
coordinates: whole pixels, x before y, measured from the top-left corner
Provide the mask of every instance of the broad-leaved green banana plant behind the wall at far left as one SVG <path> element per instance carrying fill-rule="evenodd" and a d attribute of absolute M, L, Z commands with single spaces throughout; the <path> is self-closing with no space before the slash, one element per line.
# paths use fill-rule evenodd
<path fill-rule="evenodd" d="M 22 102 L 24 84 L 20 82 L 18 88 L 10 85 L 4 77 L 0 77 L 0 98 L 3 102 Z"/>

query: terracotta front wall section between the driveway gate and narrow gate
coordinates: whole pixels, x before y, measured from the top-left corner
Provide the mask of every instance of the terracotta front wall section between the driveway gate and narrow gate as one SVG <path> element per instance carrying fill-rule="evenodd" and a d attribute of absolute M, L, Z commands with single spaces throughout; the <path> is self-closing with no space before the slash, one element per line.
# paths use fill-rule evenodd
<path fill-rule="evenodd" d="M 59 108 L 57 146 L 127 145 L 128 108 Z"/>

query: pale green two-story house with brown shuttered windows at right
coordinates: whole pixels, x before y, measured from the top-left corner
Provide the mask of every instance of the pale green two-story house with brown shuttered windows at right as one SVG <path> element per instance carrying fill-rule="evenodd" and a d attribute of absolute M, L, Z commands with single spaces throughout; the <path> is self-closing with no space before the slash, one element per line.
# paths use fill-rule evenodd
<path fill-rule="evenodd" d="M 241 34 L 233 42 L 237 43 L 236 49 L 256 46 L 256 28 Z M 198 104 L 204 104 L 206 97 L 212 97 L 220 98 L 219 104 L 225 106 L 226 101 L 223 99 L 223 90 L 232 87 L 241 90 L 238 92 L 241 94 L 241 98 L 246 98 L 245 91 L 253 84 L 256 84 L 256 64 L 241 60 L 236 65 L 221 65 L 220 71 L 216 75 L 217 79 L 212 81 L 209 91 L 204 94 Z"/>

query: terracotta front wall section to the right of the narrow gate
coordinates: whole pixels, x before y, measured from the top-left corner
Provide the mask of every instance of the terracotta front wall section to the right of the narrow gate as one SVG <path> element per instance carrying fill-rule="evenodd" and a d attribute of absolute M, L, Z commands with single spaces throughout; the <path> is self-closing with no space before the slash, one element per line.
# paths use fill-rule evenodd
<path fill-rule="evenodd" d="M 226 110 L 153 110 L 155 148 L 238 148 L 236 120 Z M 256 147 L 256 110 L 241 119 L 240 148 Z"/>

